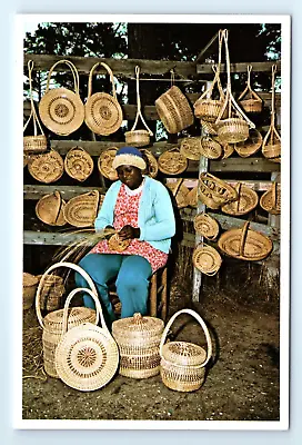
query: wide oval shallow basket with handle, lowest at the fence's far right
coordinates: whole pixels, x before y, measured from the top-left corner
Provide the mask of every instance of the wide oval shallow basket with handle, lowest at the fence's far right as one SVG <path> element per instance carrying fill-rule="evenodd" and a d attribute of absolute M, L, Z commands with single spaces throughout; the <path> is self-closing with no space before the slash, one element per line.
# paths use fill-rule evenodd
<path fill-rule="evenodd" d="M 218 240 L 218 246 L 231 257 L 259 261 L 270 255 L 273 244 L 263 234 L 249 229 L 249 224 L 246 221 L 243 228 L 224 231 Z"/>

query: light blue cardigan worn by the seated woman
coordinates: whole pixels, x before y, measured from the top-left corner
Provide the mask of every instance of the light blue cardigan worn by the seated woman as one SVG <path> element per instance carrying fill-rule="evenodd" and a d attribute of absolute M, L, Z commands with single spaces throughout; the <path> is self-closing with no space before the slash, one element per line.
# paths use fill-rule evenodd
<path fill-rule="evenodd" d="M 108 189 L 102 207 L 94 221 L 95 230 L 113 226 L 114 207 L 122 182 L 117 180 Z M 155 249 L 169 253 L 171 238 L 175 234 L 175 218 L 167 188 L 158 180 L 144 177 L 138 215 L 140 240 Z"/>

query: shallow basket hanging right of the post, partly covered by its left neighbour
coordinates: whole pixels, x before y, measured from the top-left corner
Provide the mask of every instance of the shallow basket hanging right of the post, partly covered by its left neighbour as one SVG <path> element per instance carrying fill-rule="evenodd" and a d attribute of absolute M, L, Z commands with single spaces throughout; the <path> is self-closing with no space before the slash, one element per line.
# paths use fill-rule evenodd
<path fill-rule="evenodd" d="M 258 206 L 258 194 L 250 187 L 239 182 L 235 186 L 235 190 L 238 192 L 238 199 L 221 207 L 224 214 L 233 216 L 246 215 Z"/>

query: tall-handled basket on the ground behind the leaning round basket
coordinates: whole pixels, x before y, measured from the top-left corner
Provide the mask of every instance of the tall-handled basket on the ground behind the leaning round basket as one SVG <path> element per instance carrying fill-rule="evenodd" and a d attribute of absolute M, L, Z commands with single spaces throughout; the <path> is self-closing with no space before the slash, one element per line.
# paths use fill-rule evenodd
<path fill-rule="evenodd" d="M 59 267 L 67 267 L 69 269 L 78 271 L 87 280 L 88 286 L 93 291 L 93 294 L 98 295 L 94 283 L 92 281 L 90 276 L 87 274 L 85 270 L 83 270 L 80 266 L 76 264 L 67 261 L 56 263 L 54 265 L 50 266 L 41 276 L 36 294 L 36 313 L 39 324 L 43 329 L 42 344 L 43 344 L 44 369 L 48 375 L 57 378 L 59 376 L 56 370 L 54 353 L 62 335 L 64 310 L 63 309 L 53 310 L 43 318 L 41 315 L 41 290 L 49 274 Z M 94 309 L 88 307 L 72 307 L 69 310 L 68 328 L 81 325 L 82 323 L 85 322 L 95 324 L 98 323 L 97 313 Z"/>

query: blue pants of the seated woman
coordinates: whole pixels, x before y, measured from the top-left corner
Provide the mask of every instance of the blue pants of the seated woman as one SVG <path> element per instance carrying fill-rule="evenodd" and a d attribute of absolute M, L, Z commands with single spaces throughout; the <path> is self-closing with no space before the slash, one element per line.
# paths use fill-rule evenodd
<path fill-rule="evenodd" d="M 121 301 L 121 318 L 132 317 L 134 313 L 147 314 L 149 278 L 152 275 L 150 263 L 139 255 L 88 254 L 79 266 L 92 278 L 102 303 L 108 327 L 115 319 L 108 295 L 108 281 L 117 278 L 117 294 Z M 87 280 L 76 273 L 78 287 L 89 287 Z M 94 309 L 90 295 L 83 296 L 84 306 Z"/>

